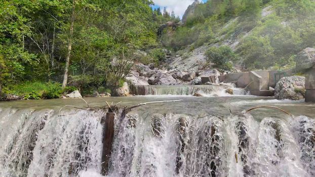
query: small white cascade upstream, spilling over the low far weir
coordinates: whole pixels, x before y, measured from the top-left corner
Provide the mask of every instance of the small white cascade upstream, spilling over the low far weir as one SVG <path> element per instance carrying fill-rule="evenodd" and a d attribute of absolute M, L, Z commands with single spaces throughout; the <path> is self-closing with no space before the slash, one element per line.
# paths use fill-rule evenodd
<path fill-rule="evenodd" d="M 243 89 L 234 88 L 229 84 L 221 85 L 134 85 L 131 92 L 134 95 L 194 95 L 226 96 L 225 90 L 232 89 L 234 95 L 249 95 Z"/>

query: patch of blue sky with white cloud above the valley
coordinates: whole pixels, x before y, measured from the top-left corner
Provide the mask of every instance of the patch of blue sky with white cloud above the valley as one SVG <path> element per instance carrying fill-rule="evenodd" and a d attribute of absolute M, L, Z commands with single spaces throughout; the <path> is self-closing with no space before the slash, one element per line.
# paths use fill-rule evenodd
<path fill-rule="evenodd" d="M 202 2 L 206 1 L 207 0 L 202 0 Z M 166 10 L 169 13 L 174 11 L 175 16 L 182 18 L 185 10 L 194 2 L 194 0 L 153 0 L 153 2 L 155 4 L 155 6 L 152 7 L 153 9 L 160 7 L 161 11 L 163 11 L 164 7 L 166 7 Z"/>

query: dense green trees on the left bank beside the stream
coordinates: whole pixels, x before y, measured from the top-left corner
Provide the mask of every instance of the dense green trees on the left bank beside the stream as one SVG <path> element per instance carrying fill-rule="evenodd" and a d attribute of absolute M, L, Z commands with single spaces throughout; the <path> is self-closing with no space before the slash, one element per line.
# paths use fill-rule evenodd
<path fill-rule="evenodd" d="M 20 94 L 27 87 L 55 91 L 29 98 L 59 97 L 61 82 L 63 89 L 119 85 L 132 61 L 141 57 L 140 50 L 158 45 L 159 24 L 172 18 L 160 10 L 153 12 L 149 0 L 5 0 L 1 4 L 2 91 Z"/>

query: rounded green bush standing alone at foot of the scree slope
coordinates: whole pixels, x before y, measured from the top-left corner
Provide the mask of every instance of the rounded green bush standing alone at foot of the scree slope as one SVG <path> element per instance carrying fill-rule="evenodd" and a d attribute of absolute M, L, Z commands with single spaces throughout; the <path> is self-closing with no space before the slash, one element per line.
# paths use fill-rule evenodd
<path fill-rule="evenodd" d="M 211 47 L 207 50 L 206 56 L 210 62 L 214 63 L 215 67 L 225 70 L 233 68 L 231 62 L 236 58 L 235 54 L 227 46 Z"/>

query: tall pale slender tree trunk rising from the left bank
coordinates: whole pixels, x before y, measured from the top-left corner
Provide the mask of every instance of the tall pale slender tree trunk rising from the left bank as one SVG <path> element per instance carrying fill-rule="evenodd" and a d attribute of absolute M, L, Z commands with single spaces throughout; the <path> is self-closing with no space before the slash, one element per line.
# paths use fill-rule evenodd
<path fill-rule="evenodd" d="M 67 86 L 68 82 L 68 70 L 69 70 L 69 63 L 70 63 L 70 54 L 71 54 L 71 47 L 72 47 L 72 35 L 73 35 L 73 24 L 74 24 L 74 15 L 75 15 L 75 0 L 72 1 L 72 14 L 71 14 L 71 24 L 70 24 L 70 35 L 68 41 L 68 53 L 66 58 L 66 67 L 64 69 L 63 75 L 63 82 L 62 82 L 62 89 Z"/>

